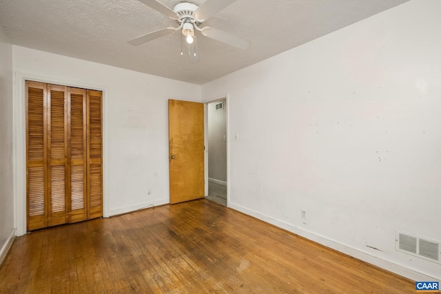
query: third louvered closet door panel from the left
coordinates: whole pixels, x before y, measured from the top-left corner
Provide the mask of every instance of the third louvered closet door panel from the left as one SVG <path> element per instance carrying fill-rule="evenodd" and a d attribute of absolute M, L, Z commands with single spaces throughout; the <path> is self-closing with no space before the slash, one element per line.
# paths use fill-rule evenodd
<path fill-rule="evenodd" d="M 68 94 L 70 142 L 70 218 L 69 222 L 88 219 L 86 207 L 86 90 L 70 88 Z"/>

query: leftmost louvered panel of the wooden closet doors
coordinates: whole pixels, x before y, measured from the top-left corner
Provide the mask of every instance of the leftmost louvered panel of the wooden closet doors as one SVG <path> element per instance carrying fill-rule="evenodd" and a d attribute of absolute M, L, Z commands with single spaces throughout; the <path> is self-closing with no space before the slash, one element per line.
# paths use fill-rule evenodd
<path fill-rule="evenodd" d="M 47 87 L 26 82 L 26 200 L 28 231 L 48 226 Z"/>

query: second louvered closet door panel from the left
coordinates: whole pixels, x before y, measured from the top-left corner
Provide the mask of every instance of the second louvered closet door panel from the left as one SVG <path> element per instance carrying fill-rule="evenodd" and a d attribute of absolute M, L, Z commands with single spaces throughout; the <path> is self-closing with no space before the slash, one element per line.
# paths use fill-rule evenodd
<path fill-rule="evenodd" d="M 48 226 L 68 222 L 68 87 L 48 85 Z"/>

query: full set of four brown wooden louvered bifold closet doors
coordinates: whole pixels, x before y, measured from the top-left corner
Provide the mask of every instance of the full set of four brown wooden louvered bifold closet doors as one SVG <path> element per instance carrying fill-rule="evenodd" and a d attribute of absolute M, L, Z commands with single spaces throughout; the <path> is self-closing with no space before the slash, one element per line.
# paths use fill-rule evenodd
<path fill-rule="evenodd" d="M 28 231 L 103 216 L 102 93 L 26 82 Z"/>

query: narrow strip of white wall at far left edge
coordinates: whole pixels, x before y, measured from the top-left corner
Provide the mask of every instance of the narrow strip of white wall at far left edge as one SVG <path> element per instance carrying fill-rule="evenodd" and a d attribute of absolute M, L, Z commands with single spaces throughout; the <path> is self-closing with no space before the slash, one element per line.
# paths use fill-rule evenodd
<path fill-rule="evenodd" d="M 0 29 L 0 263 L 14 238 L 12 45 Z"/>

